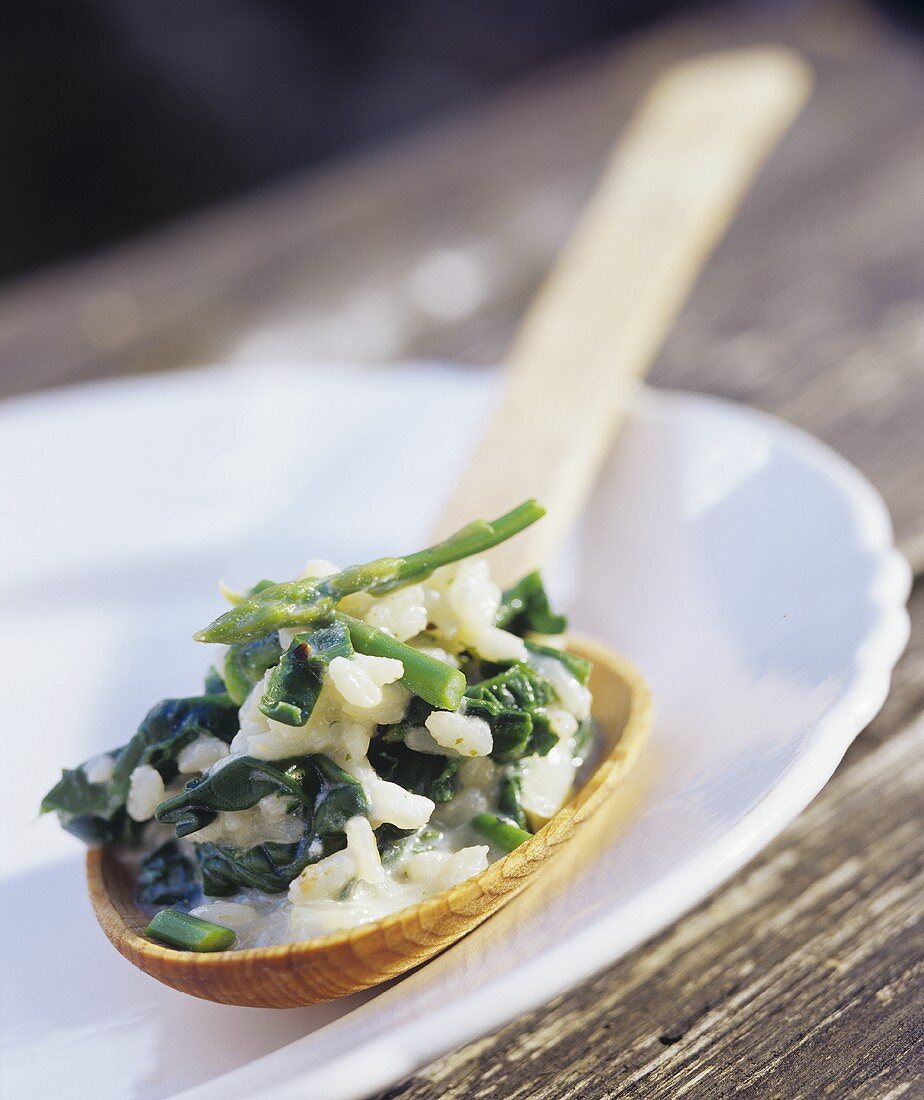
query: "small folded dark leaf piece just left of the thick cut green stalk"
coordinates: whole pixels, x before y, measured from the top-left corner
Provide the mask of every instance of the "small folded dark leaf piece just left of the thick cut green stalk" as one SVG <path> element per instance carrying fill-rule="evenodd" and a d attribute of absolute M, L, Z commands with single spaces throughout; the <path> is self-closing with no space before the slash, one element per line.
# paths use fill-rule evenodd
<path fill-rule="evenodd" d="M 287 726 L 304 726 L 321 693 L 324 669 L 334 657 L 352 656 L 350 631 L 343 623 L 297 634 L 270 673 L 260 710 Z"/>

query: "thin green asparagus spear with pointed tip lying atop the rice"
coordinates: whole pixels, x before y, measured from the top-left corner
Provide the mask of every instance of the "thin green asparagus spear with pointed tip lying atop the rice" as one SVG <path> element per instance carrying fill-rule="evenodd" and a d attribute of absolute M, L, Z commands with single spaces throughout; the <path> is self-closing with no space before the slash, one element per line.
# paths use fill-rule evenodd
<path fill-rule="evenodd" d="M 440 565 L 483 553 L 506 541 L 543 515 L 540 504 L 525 501 L 493 522 L 475 520 L 443 542 L 404 558 L 378 558 L 331 576 L 270 585 L 199 630 L 196 640 L 235 645 L 253 641 L 280 627 L 312 626 L 329 619 L 338 602 L 350 593 L 381 595 L 422 581 Z"/>

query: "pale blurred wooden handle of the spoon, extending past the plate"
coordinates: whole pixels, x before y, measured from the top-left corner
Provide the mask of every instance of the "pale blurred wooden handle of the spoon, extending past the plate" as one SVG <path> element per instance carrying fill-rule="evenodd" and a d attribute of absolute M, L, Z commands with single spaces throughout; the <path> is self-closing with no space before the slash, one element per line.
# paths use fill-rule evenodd
<path fill-rule="evenodd" d="M 548 517 L 493 551 L 492 568 L 509 582 L 558 549 L 632 387 L 810 87 L 805 63 L 776 47 L 711 54 L 658 80 L 514 341 L 440 537 L 536 496 Z"/>

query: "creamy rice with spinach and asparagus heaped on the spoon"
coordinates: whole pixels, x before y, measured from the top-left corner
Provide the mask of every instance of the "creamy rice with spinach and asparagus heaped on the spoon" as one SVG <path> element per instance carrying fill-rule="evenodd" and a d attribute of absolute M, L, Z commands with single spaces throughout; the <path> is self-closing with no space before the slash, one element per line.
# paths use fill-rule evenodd
<path fill-rule="evenodd" d="M 43 812 L 120 846 L 148 936 L 189 950 L 308 939 L 477 875 L 563 805 L 593 736 L 539 574 L 502 593 L 477 557 L 542 515 L 226 590 L 204 694 L 65 771 Z"/>

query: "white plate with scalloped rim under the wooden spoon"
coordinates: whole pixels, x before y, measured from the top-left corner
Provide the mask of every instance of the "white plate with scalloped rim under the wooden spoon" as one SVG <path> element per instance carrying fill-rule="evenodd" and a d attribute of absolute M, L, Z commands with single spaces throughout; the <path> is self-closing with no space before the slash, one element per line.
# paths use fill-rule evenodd
<path fill-rule="evenodd" d="M 595 857 L 563 851 L 541 891 L 333 1005 L 219 1007 L 135 971 L 96 927 L 80 847 L 35 820 L 45 788 L 124 740 L 150 703 L 197 690 L 208 654 L 189 635 L 219 606 L 217 578 L 414 549 L 495 385 L 433 366 L 206 370 L 0 409 L 10 1096 L 384 1088 L 700 901 L 881 706 L 910 578 L 877 494 L 779 421 L 647 393 L 554 576 L 575 625 L 631 654 L 658 701 L 637 773 L 593 825 Z"/>

